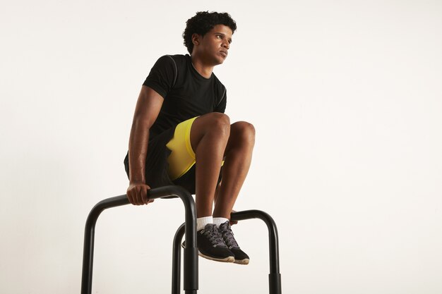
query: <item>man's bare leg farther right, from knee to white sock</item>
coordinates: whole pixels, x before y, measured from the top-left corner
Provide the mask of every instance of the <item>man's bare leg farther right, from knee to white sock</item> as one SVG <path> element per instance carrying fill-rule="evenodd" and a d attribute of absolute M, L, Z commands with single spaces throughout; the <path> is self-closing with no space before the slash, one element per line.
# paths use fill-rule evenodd
<path fill-rule="evenodd" d="M 230 219 L 230 212 L 249 172 L 254 144 L 255 129 L 251 123 L 239 121 L 231 125 L 213 217 Z"/>

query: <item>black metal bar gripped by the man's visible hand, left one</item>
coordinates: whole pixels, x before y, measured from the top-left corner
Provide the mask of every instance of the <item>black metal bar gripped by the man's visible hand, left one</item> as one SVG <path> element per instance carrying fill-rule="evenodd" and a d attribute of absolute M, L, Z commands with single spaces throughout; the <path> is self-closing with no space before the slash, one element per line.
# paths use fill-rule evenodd
<path fill-rule="evenodd" d="M 169 185 L 165 187 L 148 190 L 149 199 L 179 197 L 184 203 L 185 209 L 185 226 L 186 226 L 186 240 L 189 240 L 189 250 L 184 251 L 184 264 L 191 268 L 190 271 L 184 272 L 185 288 L 193 290 L 196 293 L 198 290 L 198 249 L 196 247 L 196 209 L 195 202 L 192 195 L 177 185 Z M 83 272 L 81 277 L 81 294 L 91 294 L 92 292 L 92 269 L 93 269 L 93 252 L 94 252 L 94 237 L 95 237 L 95 223 L 97 223 L 98 216 L 104 209 L 111 207 L 118 207 L 129 204 L 126 195 L 107 198 L 95 204 L 88 215 L 85 224 L 85 240 L 83 247 Z M 182 237 L 182 236 L 181 236 Z M 189 264 L 187 264 L 189 262 Z"/>

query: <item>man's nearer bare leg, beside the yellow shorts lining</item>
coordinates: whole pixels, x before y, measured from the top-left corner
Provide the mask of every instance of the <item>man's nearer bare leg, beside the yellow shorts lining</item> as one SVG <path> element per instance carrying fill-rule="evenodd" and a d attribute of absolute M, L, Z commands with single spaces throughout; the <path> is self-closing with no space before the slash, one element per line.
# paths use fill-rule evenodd
<path fill-rule="evenodd" d="M 221 162 L 230 134 L 229 117 L 210 113 L 196 118 L 191 145 L 196 154 L 196 214 L 211 216 Z"/>

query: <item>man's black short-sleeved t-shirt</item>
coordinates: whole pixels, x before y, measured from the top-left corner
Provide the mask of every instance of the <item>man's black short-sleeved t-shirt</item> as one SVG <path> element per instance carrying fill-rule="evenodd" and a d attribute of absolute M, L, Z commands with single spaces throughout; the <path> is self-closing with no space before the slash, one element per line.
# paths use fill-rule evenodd
<path fill-rule="evenodd" d="M 143 85 L 164 98 L 150 138 L 189 118 L 225 111 L 226 88 L 214 73 L 210 78 L 200 75 L 188 54 L 160 57 Z"/>

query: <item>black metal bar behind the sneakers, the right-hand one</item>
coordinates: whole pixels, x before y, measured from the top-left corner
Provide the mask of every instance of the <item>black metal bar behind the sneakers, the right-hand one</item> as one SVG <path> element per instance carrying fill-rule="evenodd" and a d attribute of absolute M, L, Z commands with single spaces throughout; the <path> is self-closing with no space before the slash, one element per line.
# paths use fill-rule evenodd
<path fill-rule="evenodd" d="M 281 274 L 280 274 L 280 257 L 279 257 L 279 243 L 277 237 L 277 228 L 276 223 L 273 221 L 273 218 L 261 211 L 261 210 L 244 210 L 242 212 L 232 212 L 230 214 L 230 219 L 232 221 L 242 221 L 245 219 L 261 219 L 265 222 L 268 228 L 268 240 L 269 240 L 269 263 L 270 263 L 270 274 L 268 275 L 268 288 L 270 294 L 281 294 Z M 179 259 L 179 251 L 182 240 L 182 233 L 180 235 L 180 231 L 182 231 L 184 224 L 182 224 L 175 235 L 174 238 L 174 259 L 172 262 L 172 272 L 174 273 L 174 277 L 172 277 L 172 294 L 179 294 L 179 272 L 180 268 L 180 259 Z M 179 240 L 178 240 L 179 239 Z M 186 241 L 187 247 L 187 241 Z M 176 258 L 178 257 L 178 258 Z M 186 270 L 186 269 L 184 269 Z M 186 294 L 188 294 L 186 292 Z"/>

